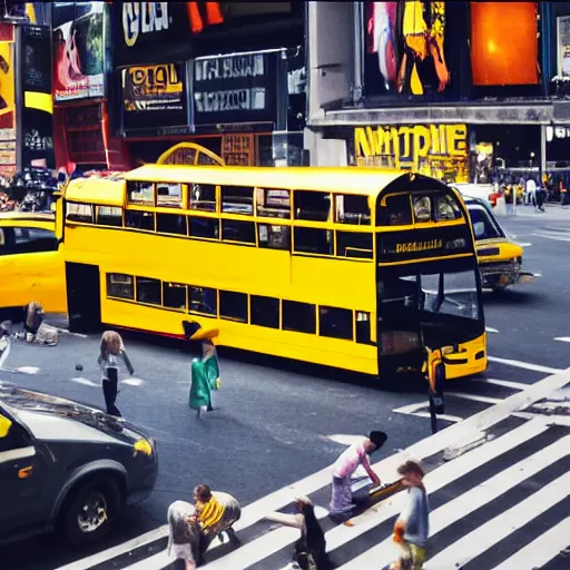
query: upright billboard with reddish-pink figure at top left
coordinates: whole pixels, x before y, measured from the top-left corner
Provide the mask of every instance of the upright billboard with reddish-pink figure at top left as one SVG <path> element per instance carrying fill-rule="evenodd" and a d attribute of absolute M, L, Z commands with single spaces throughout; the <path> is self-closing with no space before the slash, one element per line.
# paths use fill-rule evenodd
<path fill-rule="evenodd" d="M 105 96 L 107 9 L 105 2 L 53 4 L 56 102 Z"/>

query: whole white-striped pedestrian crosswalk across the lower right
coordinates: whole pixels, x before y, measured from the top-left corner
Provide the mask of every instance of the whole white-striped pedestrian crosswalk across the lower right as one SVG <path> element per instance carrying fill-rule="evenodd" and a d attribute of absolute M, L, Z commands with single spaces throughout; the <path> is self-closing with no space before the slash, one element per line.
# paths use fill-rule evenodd
<path fill-rule="evenodd" d="M 407 456 L 422 461 L 431 503 L 425 570 L 547 570 L 570 546 L 570 417 L 520 412 L 564 386 L 569 373 L 528 385 L 373 465 L 387 482 L 396 479 L 395 470 Z M 451 449 L 455 453 L 449 454 Z M 246 505 L 235 524 L 242 546 L 214 541 L 202 568 L 287 568 L 298 531 L 264 517 L 275 510 L 293 512 L 293 499 L 301 494 L 317 505 L 334 568 L 377 570 L 390 563 L 395 558 L 392 528 L 405 492 L 379 503 L 355 525 L 338 525 L 327 518 L 330 478 L 326 468 Z M 167 535 L 161 527 L 60 570 L 170 569 Z"/>

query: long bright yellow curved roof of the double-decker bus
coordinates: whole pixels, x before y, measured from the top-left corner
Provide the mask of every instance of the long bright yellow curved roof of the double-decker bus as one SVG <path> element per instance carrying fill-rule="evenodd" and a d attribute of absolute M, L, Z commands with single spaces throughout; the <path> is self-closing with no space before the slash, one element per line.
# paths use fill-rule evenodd
<path fill-rule="evenodd" d="M 127 180 L 165 183 L 215 183 L 222 186 L 244 184 L 261 188 L 338 190 L 345 194 L 377 195 L 389 184 L 402 176 L 407 176 L 407 173 L 395 169 L 355 167 L 145 165 L 129 171 L 125 178 Z"/>

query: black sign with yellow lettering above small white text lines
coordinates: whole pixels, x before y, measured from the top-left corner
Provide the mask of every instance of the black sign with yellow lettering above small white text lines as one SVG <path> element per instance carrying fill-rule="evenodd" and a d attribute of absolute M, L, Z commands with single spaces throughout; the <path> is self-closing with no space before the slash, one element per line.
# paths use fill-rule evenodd
<path fill-rule="evenodd" d="M 188 125 L 183 63 L 129 67 L 120 75 L 125 130 Z"/>

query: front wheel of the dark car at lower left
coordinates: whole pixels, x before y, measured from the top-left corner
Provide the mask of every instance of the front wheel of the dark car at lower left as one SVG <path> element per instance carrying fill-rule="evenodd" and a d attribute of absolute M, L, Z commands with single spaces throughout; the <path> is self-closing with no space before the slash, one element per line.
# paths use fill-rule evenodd
<path fill-rule="evenodd" d="M 80 485 L 63 512 L 65 531 L 76 546 L 101 540 L 115 525 L 121 507 L 117 482 L 108 476 Z"/>

